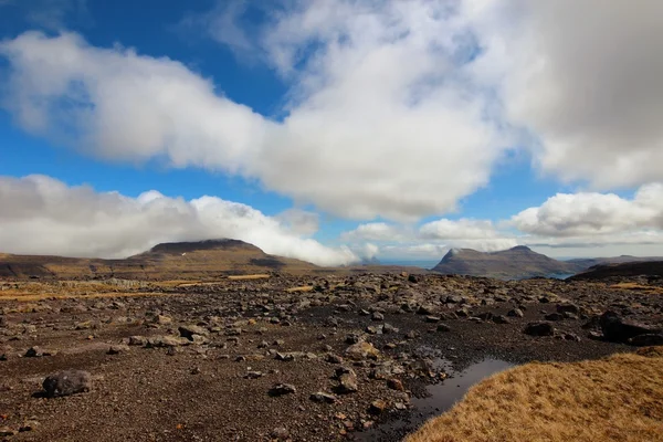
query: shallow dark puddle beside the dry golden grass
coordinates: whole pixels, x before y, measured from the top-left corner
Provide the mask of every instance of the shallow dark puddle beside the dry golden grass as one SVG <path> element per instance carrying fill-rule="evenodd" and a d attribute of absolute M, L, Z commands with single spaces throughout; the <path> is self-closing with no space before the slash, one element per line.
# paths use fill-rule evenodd
<path fill-rule="evenodd" d="M 499 359 L 484 359 L 473 364 L 463 371 L 451 371 L 451 362 L 445 359 L 435 360 L 435 366 L 445 368 L 450 378 L 443 382 L 428 386 L 425 398 L 412 398 L 414 409 L 407 418 L 392 420 L 378 425 L 376 429 L 356 433 L 357 441 L 400 441 L 402 436 L 417 430 L 428 419 L 442 414 L 463 399 L 465 392 L 488 376 L 515 367 L 514 364 Z"/>

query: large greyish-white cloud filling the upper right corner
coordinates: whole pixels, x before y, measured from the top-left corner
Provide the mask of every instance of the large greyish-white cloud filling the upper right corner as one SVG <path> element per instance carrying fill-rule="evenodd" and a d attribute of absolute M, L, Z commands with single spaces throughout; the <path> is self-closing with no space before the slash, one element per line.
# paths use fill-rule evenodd
<path fill-rule="evenodd" d="M 600 189 L 663 179 L 663 2 L 485 2 L 476 65 L 544 171 Z M 467 3 L 466 3 L 467 4 Z"/>

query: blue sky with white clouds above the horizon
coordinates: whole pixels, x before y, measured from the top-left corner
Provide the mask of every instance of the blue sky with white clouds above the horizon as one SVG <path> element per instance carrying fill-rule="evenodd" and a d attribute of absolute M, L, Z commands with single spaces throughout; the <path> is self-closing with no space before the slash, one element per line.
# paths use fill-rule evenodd
<path fill-rule="evenodd" d="M 0 252 L 663 256 L 663 2 L 0 0 Z"/>

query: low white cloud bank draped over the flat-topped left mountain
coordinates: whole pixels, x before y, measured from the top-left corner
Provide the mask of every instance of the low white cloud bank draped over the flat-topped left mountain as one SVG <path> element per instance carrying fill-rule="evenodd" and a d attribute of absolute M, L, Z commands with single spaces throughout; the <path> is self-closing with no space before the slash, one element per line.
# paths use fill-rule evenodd
<path fill-rule="evenodd" d="M 129 198 L 44 176 L 0 177 L 0 207 L 2 252 L 124 257 L 160 242 L 232 238 L 319 265 L 358 260 L 347 248 L 301 238 L 278 219 L 215 197 L 186 201 L 151 190 Z"/>

